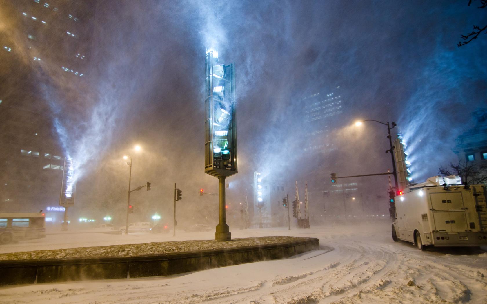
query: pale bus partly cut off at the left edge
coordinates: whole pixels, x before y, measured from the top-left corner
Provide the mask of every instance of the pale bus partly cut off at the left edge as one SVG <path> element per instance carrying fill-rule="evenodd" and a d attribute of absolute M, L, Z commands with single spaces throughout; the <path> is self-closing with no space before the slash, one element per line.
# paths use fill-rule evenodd
<path fill-rule="evenodd" d="M 0 244 L 46 237 L 43 213 L 0 213 Z"/>

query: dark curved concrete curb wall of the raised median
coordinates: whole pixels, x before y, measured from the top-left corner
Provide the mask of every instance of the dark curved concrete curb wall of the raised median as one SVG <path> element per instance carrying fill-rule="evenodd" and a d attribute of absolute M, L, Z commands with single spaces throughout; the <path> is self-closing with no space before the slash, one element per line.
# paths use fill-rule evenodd
<path fill-rule="evenodd" d="M 317 238 L 231 249 L 89 259 L 0 261 L 0 285 L 164 276 L 275 260 L 317 250 Z"/>

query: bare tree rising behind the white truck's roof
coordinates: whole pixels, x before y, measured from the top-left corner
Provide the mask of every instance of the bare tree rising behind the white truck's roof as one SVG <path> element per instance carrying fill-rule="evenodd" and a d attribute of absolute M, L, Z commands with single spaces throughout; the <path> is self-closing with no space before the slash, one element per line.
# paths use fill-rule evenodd
<path fill-rule="evenodd" d="M 450 162 L 450 167 L 440 167 L 438 174 L 443 176 L 458 175 L 466 185 L 482 184 L 487 181 L 486 169 L 486 166 L 480 166 L 473 162 L 458 161 L 457 164 Z"/>

